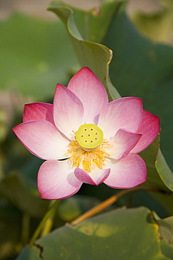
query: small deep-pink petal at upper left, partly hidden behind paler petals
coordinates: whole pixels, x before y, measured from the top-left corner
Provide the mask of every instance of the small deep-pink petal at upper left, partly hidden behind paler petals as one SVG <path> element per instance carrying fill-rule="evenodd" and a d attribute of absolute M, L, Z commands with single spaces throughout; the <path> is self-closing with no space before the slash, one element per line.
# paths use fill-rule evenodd
<path fill-rule="evenodd" d="M 23 122 L 30 120 L 47 120 L 54 124 L 53 105 L 48 103 L 31 103 L 25 105 Z"/>

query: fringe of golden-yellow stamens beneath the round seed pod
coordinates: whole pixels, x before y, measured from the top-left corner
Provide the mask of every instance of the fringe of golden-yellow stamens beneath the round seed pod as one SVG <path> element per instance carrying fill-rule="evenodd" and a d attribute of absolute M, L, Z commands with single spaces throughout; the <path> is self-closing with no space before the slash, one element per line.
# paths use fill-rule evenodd
<path fill-rule="evenodd" d="M 101 145 L 93 150 L 84 150 L 78 141 L 74 140 L 69 143 L 67 155 L 70 155 L 70 164 L 73 167 L 81 167 L 84 171 L 90 173 L 95 169 L 95 165 L 102 169 L 106 157 L 109 157 L 104 148 L 110 148 L 108 141 L 103 141 Z"/>

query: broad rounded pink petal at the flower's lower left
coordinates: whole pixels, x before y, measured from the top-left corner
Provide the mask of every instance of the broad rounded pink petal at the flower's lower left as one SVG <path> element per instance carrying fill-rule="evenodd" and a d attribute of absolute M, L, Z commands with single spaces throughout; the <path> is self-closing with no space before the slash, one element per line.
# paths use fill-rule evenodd
<path fill-rule="evenodd" d="M 69 169 L 68 160 L 43 162 L 38 174 L 39 193 L 43 199 L 57 200 L 78 192 L 82 182 Z"/>

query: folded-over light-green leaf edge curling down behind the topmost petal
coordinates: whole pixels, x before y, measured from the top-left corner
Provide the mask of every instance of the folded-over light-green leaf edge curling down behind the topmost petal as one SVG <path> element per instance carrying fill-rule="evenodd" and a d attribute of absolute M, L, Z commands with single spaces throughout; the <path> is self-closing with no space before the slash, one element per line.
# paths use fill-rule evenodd
<path fill-rule="evenodd" d="M 114 8 L 112 8 L 112 4 L 110 4 L 109 2 L 105 3 L 102 8 L 106 9 L 106 13 L 111 12 L 112 16 L 113 13 L 116 13 L 116 9 L 118 9 L 118 6 L 120 5 L 119 1 L 118 4 L 116 2 L 116 4 L 114 3 L 114 5 Z M 73 8 L 73 10 L 74 9 L 75 8 Z M 81 36 L 78 27 L 76 27 L 76 23 L 74 21 L 74 11 L 68 6 L 64 6 L 64 4 L 62 4 L 61 2 L 53 2 L 48 7 L 48 10 L 56 13 L 66 25 L 67 32 L 69 32 L 69 37 L 72 41 L 72 44 L 76 51 L 76 55 L 81 65 L 83 67 L 90 67 L 90 69 L 95 72 L 97 77 L 99 77 L 101 82 L 104 84 L 106 90 L 109 90 L 112 99 L 120 98 L 118 91 L 116 91 L 109 79 L 109 63 L 111 62 L 112 51 L 102 44 L 88 41 L 88 39 L 83 40 L 83 37 Z M 88 31 L 88 22 L 86 23 L 86 21 L 88 21 L 88 19 L 93 16 L 92 14 L 90 14 L 92 13 L 92 11 L 90 11 L 90 13 L 88 11 L 85 11 L 85 15 L 81 15 L 83 11 L 80 10 L 76 10 L 75 14 L 76 13 L 78 13 L 78 19 L 76 17 L 75 20 L 78 20 L 78 23 L 81 24 L 83 24 L 85 20 L 85 31 Z M 88 17 L 88 19 L 85 19 L 86 17 Z M 95 19 L 95 22 L 97 21 L 99 22 L 97 27 L 102 25 L 101 22 L 103 22 L 103 20 L 99 19 L 99 16 L 97 16 L 97 19 Z M 111 21 L 108 19 L 108 24 L 106 24 L 104 28 L 107 28 L 110 22 Z M 91 28 L 92 27 L 90 27 L 90 29 Z M 94 34 L 96 32 L 97 30 L 92 30 L 91 34 Z M 99 36 L 98 32 L 95 37 L 96 39 L 102 38 Z"/>

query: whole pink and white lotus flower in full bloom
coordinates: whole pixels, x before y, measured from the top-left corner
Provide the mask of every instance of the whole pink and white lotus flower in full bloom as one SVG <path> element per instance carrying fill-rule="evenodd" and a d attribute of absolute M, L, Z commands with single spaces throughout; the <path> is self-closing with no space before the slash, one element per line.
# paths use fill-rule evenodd
<path fill-rule="evenodd" d="M 104 86 L 84 67 L 67 87 L 57 84 L 53 105 L 25 105 L 23 123 L 13 131 L 25 147 L 46 160 L 39 169 L 42 198 L 61 199 L 83 183 L 133 188 L 146 181 L 137 153 L 150 145 L 160 120 L 143 110 L 141 98 L 109 103 Z"/>

